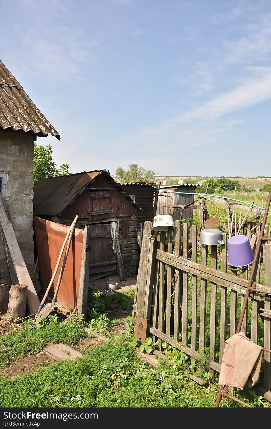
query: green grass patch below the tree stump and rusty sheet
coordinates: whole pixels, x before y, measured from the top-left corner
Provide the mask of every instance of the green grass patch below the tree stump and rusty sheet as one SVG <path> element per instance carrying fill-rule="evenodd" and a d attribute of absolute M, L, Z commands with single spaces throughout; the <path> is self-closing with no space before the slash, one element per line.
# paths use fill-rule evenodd
<path fill-rule="evenodd" d="M 27 320 L 9 334 L 0 336 L 0 368 L 12 365 L 25 354 L 38 353 L 49 342 L 73 345 L 85 336 L 79 323 L 50 322 L 34 326 L 33 320 Z"/>

